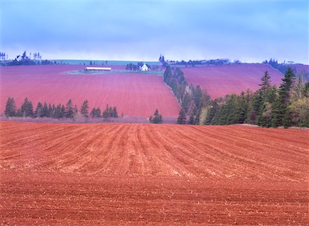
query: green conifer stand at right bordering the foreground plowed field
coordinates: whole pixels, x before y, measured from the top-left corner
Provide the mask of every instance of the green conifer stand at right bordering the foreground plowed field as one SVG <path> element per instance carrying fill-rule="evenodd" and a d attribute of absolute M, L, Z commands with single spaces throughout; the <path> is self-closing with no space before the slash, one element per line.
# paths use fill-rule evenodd
<path fill-rule="evenodd" d="M 271 85 L 268 71 L 261 78 L 258 91 L 242 91 L 204 104 L 200 122 L 195 124 L 256 124 L 263 127 L 309 126 L 309 82 L 305 76 L 295 76 L 293 69 L 286 69 L 279 88 Z M 185 109 L 177 120 L 186 121 Z M 191 123 L 190 123 L 191 124 Z"/>

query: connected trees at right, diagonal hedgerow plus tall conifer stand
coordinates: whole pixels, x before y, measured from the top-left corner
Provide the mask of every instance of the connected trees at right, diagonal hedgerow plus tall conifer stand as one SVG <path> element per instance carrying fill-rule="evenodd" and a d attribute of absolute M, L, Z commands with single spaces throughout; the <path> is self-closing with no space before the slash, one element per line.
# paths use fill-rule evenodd
<path fill-rule="evenodd" d="M 256 124 L 264 127 L 309 126 L 309 83 L 288 68 L 279 89 L 271 85 L 268 71 L 260 89 L 210 100 L 199 86 L 187 85 L 180 69 L 165 70 L 164 81 L 181 104 L 177 124 Z M 187 118 L 187 115 L 190 115 Z"/>

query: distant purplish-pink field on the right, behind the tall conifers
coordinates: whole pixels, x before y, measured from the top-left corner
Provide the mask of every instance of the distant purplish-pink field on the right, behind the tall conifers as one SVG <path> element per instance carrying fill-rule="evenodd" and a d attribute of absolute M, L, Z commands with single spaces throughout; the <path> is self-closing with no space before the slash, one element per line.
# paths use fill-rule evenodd
<path fill-rule="evenodd" d="M 187 82 L 207 89 L 211 98 L 223 97 L 231 93 L 241 93 L 247 89 L 259 89 L 260 78 L 268 71 L 272 84 L 282 82 L 283 74 L 269 65 L 242 64 L 204 67 L 183 67 Z"/>

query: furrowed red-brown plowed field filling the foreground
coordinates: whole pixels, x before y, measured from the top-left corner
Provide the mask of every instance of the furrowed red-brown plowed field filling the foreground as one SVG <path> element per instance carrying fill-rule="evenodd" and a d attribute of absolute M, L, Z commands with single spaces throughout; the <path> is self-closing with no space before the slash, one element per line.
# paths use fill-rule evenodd
<path fill-rule="evenodd" d="M 1 122 L 2 225 L 308 225 L 308 130 Z"/>

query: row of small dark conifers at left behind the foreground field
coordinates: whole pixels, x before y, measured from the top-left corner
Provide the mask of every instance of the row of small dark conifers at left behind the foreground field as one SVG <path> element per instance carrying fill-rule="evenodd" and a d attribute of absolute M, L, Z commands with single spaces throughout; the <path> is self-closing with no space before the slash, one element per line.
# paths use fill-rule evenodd
<path fill-rule="evenodd" d="M 67 118 L 75 120 L 78 115 L 82 115 L 84 118 L 103 118 L 107 120 L 111 117 L 118 117 L 116 106 L 108 106 L 106 104 L 106 109 L 102 111 L 100 107 L 93 108 L 89 113 L 88 100 L 84 100 L 80 109 L 78 109 L 76 104 L 73 104 L 72 100 L 68 100 L 67 104 L 47 104 L 44 102 L 38 102 L 36 109 L 28 98 L 25 98 L 21 107 L 17 108 L 14 98 L 8 98 L 5 104 L 5 116 L 6 117 L 51 117 L 55 119 Z"/>

